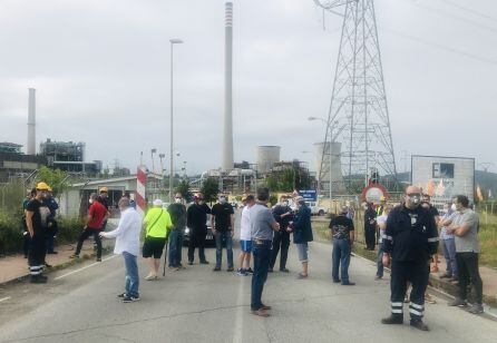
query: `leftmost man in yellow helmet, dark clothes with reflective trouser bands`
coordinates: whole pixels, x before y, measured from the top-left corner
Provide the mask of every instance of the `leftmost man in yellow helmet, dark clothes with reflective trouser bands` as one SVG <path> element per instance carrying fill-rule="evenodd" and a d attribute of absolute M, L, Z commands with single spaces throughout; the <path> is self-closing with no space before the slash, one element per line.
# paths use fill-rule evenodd
<path fill-rule="evenodd" d="M 47 220 L 47 210 L 41 210 L 42 199 L 47 196 L 48 185 L 39 183 L 36 196 L 26 207 L 26 226 L 30 235 L 28 264 L 31 283 L 47 283 L 47 276 L 42 275 L 45 256 L 47 253 L 45 242 L 43 222 Z M 43 207 L 45 208 L 45 207 Z M 49 210 L 48 210 L 49 213 Z"/>

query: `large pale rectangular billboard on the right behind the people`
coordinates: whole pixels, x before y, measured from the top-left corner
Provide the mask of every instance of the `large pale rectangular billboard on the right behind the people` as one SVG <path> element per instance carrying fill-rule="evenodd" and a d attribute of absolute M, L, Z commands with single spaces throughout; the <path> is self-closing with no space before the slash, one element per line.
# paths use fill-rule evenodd
<path fill-rule="evenodd" d="M 475 158 L 412 155 L 411 184 L 429 194 L 435 205 L 456 195 L 466 195 L 474 202 Z"/>

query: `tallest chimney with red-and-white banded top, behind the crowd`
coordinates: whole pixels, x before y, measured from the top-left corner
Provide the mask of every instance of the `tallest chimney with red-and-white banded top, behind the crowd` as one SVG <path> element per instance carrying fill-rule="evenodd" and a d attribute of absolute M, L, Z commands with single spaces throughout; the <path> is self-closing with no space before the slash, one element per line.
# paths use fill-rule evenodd
<path fill-rule="evenodd" d="M 225 75 L 224 75 L 224 130 L 222 169 L 234 166 L 233 157 L 233 2 L 226 2 Z"/>

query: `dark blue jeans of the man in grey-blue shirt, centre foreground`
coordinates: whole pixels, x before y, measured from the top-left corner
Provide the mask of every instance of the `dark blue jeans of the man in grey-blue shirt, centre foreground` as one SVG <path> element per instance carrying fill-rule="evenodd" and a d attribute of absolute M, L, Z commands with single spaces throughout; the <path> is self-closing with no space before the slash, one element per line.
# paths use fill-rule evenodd
<path fill-rule="evenodd" d="M 267 280 L 267 271 L 271 262 L 271 241 L 262 241 L 257 244 L 252 242 L 252 253 L 254 255 L 254 274 L 252 274 L 251 308 L 257 311 L 262 307 L 262 291 Z"/>

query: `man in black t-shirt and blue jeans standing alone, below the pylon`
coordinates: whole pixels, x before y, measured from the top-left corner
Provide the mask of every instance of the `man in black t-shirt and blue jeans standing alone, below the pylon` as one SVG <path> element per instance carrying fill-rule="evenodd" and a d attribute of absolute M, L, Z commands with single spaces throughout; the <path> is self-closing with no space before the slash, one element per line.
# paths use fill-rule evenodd
<path fill-rule="evenodd" d="M 344 286 L 353 286 L 349 281 L 350 252 L 353 244 L 353 222 L 347 217 L 349 208 L 343 206 L 340 214 L 332 218 L 329 225 L 333 236 L 333 266 L 332 277 L 334 283 L 341 282 Z M 341 265 L 341 280 L 339 278 L 339 268 Z"/>

